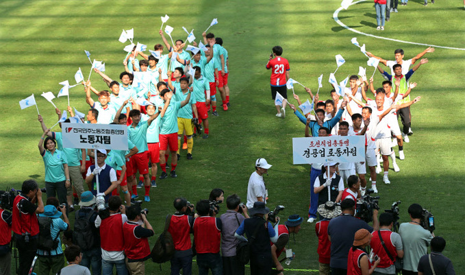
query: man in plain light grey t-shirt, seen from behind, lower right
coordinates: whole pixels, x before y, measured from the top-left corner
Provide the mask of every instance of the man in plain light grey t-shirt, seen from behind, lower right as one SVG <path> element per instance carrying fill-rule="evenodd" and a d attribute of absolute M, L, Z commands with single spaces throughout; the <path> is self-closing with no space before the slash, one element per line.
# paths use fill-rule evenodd
<path fill-rule="evenodd" d="M 423 207 L 412 204 L 408 208 L 411 222 L 404 222 L 399 226 L 399 235 L 403 243 L 403 275 L 417 274 L 418 261 L 427 253 L 427 246 L 433 239 L 433 233 L 420 225 L 423 217 Z"/>

